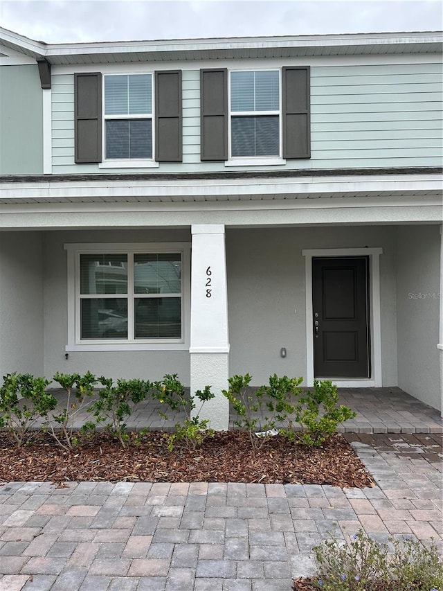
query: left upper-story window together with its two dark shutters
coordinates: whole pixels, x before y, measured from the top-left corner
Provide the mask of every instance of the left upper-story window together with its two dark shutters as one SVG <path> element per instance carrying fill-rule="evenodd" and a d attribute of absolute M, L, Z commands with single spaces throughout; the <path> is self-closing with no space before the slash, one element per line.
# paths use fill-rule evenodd
<path fill-rule="evenodd" d="M 181 70 L 74 74 L 75 162 L 105 168 L 183 159 Z"/>

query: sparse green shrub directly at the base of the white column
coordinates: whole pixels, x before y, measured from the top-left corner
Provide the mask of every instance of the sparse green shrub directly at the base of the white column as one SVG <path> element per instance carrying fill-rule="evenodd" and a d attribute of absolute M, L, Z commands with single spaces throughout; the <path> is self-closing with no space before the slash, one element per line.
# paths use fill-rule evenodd
<path fill-rule="evenodd" d="M 195 450 L 201 446 L 206 437 L 213 436 L 214 431 L 208 428 L 209 421 L 199 418 L 204 403 L 215 397 L 215 394 L 210 391 L 210 386 L 205 386 L 203 390 L 197 390 L 194 396 L 186 396 L 185 388 L 179 381 L 177 373 L 167 374 L 161 382 L 156 382 L 152 396 L 162 405 L 170 407 L 172 411 L 185 414 L 184 421 L 174 425 L 174 433 L 165 434 L 170 451 L 174 449 L 177 442 L 180 442 L 188 450 Z M 199 400 L 201 405 L 198 412 L 193 413 L 192 411 L 197 408 L 196 400 Z M 165 412 L 159 411 L 159 414 L 168 420 L 168 415 Z"/>

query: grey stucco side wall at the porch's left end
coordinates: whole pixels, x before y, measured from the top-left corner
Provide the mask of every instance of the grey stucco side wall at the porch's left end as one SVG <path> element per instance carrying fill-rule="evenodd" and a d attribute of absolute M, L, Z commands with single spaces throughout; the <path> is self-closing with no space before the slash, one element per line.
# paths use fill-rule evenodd
<path fill-rule="evenodd" d="M 0 233 L 0 378 L 44 373 L 43 237 Z"/>

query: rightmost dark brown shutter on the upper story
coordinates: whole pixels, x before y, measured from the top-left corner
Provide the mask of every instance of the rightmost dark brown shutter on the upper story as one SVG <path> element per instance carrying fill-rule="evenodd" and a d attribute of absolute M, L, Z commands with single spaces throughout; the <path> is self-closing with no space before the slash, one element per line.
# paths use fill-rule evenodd
<path fill-rule="evenodd" d="M 310 158 L 309 66 L 283 68 L 283 157 Z"/>

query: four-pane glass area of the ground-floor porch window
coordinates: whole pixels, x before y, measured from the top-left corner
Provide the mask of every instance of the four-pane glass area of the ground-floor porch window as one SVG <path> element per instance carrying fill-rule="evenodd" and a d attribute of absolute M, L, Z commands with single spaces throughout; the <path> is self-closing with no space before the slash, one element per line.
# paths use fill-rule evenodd
<path fill-rule="evenodd" d="M 168 338 L 181 338 L 180 253 L 80 254 L 80 339 Z"/>

